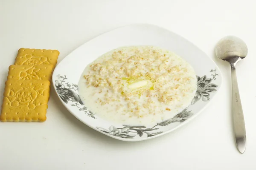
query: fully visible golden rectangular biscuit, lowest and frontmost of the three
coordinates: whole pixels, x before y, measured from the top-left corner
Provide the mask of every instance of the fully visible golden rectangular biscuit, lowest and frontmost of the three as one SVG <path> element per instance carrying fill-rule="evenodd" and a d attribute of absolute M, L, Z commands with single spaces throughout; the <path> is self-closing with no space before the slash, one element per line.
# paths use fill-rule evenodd
<path fill-rule="evenodd" d="M 0 121 L 44 122 L 49 88 L 48 80 L 7 80 Z"/>

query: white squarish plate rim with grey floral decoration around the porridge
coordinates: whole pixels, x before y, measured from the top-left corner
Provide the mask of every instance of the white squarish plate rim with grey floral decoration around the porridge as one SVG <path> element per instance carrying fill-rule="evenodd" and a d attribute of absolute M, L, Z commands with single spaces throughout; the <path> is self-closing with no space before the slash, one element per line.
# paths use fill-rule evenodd
<path fill-rule="evenodd" d="M 192 65 L 198 75 L 198 89 L 188 108 L 172 119 L 146 127 L 113 124 L 87 110 L 86 103 L 79 102 L 77 84 L 84 68 L 102 54 L 130 45 L 159 46 L 173 51 Z M 183 37 L 158 26 L 134 24 L 102 34 L 71 52 L 55 68 L 52 82 L 63 105 L 84 124 L 115 139 L 141 141 L 169 133 L 197 116 L 218 91 L 221 74 L 203 51 Z"/>

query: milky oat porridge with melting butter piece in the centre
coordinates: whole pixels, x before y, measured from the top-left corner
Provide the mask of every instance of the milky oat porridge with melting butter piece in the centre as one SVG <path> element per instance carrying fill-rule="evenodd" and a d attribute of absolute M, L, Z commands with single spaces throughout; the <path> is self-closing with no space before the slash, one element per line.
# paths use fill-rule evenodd
<path fill-rule="evenodd" d="M 196 88 L 192 66 L 154 46 L 103 54 L 79 80 L 79 96 L 86 107 L 123 125 L 151 125 L 172 118 L 190 104 Z"/>

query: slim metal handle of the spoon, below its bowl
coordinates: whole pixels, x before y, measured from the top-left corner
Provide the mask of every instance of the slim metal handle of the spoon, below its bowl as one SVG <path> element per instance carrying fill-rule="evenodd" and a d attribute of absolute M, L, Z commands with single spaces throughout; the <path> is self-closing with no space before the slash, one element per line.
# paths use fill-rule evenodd
<path fill-rule="evenodd" d="M 236 146 L 240 153 L 244 153 L 246 148 L 246 132 L 244 125 L 244 113 L 241 105 L 239 89 L 236 78 L 236 67 L 231 64 L 232 74 L 232 98 L 233 98 L 233 128 L 236 137 Z"/>

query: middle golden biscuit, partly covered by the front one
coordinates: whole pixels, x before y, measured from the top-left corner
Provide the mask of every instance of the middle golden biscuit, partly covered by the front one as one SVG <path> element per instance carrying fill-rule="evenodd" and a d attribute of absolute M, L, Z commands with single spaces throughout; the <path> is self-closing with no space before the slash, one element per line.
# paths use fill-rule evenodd
<path fill-rule="evenodd" d="M 53 65 L 10 65 L 8 79 L 49 80 L 52 79 Z"/>

